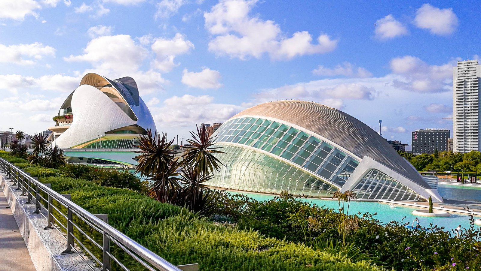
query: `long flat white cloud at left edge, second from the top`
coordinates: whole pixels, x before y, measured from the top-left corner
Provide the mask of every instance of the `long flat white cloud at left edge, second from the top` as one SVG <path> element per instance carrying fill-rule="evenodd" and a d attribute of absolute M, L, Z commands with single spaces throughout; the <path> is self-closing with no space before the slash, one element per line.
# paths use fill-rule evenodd
<path fill-rule="evenodd" d="M 10 46 L 0 44 L 0 63 L 32 65 L 45 56 L 55 56 L 55 49 L 40 42 Z"/>

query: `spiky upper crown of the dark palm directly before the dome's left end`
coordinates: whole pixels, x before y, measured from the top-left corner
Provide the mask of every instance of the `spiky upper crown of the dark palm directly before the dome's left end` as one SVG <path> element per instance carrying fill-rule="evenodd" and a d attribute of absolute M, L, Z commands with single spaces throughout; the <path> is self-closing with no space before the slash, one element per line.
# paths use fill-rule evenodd
<path fill-rule="evenodd" d="M 200 174 L 209 176 L 214 173 L 214 170 L 219 170 L 219 164 L 223 165 L 222 162 L 214 156 L 214 153 L 225 152 L 217 150 L 218 147 L 212 147 L 215 145 L 216 138 L 209 137 L 204 123 L 202 123 L 200 127 L 197 125 L 196 127 L 197 134 L 194 135 L 194 133 L 190 132 L 192 139 L 188 139 L 187 142 L 189 142 L 192 147 L 184 151 L 184 160 L 182 162 L 197 168 Z"/>

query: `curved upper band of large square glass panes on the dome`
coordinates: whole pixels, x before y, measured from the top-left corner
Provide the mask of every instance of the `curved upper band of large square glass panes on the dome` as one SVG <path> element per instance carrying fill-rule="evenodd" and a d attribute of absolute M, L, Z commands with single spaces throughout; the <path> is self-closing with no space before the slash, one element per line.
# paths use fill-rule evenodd
<path fill-rule="evenodd" d="M 217 142 L 233 142 L 262 149 L 338 185 L 345 182 L 358 164 L 354 158 L 347 157 L 341 150 L 315 136 L 261 118 L 230 120 L 217 129 L 216 135 Z"/>

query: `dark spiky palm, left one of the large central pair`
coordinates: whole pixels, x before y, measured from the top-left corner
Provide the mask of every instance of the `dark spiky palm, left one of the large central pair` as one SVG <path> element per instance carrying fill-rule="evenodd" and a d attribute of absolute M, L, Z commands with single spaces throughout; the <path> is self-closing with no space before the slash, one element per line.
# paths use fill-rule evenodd
<path fill-rule="evenodd" d="M 149 195 L 161 202 L 172 202 L 177 195 L 177 169 L 180 166 L 175 158 L 176 151 L 171 148 L 174 140 L 169 141 L 166 134 L 147 131 L 138 139 L 139 153 L 136 159 L 139 162 L 135 172 L 154 182 Z"/>

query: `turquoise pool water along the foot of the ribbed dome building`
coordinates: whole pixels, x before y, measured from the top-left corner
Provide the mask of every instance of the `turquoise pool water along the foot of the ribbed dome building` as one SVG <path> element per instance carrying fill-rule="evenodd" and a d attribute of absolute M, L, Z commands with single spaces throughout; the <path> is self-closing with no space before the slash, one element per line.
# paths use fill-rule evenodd
<path fill-rule="evenodd" d="M 239 192 L 231 192 L 237 194 Z M 272 199 L 274 195 L 256 194 L 242 192 L 242 194 L 252 197 L 256 200 L 268 200 Z M 337 200 L 326 200 L 326 199 L 306 199 L 302 198 L 302 201 L 311 202 L 311 204 L 316 204 L 318 206 L 325 206 L 332 209 L 339 209 Z M 366 202 L 366 201 L 352 201 L 349 207 L 349 213 L 355 214 L 358 211 L 361 213 L 377 213 L 374 217 L 379 219 L 382 223 L 387 223 L 390 221 L 401 221 L 405 217 L 404 222 L 411 223 L 415 216 L 412 211 L 416 208 L 395 206 L 392 208 L 389 204 L 378 203 L 378 202 Z M 433 225 L 437 224 L 439 227 L 443 226 L 445 230 L 455 229 L 458 225 L 464 228 L 469 228 L 469 216 L 452 213 L 450 217 L 418 217 L 419 222 L 421 222 L 422 227 L 429 227 L 430 223 Z M 478 226 L 475 225 L 476 228 Z"/>

